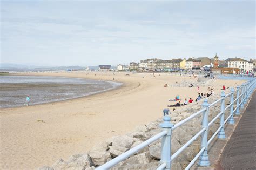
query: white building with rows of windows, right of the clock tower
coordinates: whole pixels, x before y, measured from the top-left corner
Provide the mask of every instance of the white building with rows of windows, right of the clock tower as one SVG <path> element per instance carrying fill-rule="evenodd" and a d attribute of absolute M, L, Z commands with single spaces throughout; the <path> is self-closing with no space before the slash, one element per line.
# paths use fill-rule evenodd
<path fill-rule="evenodd" d="M 227 67 L 238 68 L 242 72 L 247 72 L 253 70 L 253 62 L 248 62 L 241 58 L 230 58 L 227 61 Z"/>

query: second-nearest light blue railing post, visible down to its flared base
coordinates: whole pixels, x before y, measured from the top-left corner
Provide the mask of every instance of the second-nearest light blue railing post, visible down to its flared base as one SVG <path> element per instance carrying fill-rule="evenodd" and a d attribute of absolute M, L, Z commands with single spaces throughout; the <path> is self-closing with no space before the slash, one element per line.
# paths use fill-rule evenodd
<path fill-rule="evenodd" d="M 206 108 L 206 111 L 203 113 L 203 122 L 202 127 L 205 128 L 205 131 L 201 134 L 201 148 L 205 147 L 203 153 L 201 153 L 198 161 L 199 166 L 210 166 L 210 161 L 208 158 L 208 145 L 207 145 L 207 138 L 208 138 L 208 114 L 209 114 L 209 106 L 208 100 L 205 99 L 203 103 L 203 107 Z"/>

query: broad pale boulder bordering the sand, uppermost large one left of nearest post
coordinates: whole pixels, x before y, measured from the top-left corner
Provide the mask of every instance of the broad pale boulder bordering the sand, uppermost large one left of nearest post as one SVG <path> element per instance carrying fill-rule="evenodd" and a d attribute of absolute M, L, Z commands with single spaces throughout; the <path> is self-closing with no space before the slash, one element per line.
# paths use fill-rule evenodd
<path fill-rule="evenodd" d="M 119 147 L 126 147 L 126 148 L 130 148 L 135 141 L 136 141 L 135 138 L 131 138 L 127 135 L 119 135 L 111 139 L 112 146 L 119 146 Z"/>

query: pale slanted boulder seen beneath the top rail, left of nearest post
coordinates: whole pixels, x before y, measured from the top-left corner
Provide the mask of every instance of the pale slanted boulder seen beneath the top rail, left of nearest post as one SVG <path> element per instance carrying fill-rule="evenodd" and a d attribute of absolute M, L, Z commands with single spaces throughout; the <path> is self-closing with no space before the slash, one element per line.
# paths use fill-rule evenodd
<path fill-rule="evenodd" d="M 147 164 L 151 162 L 151 157 L 149 152 L 144 152 L 140 153 L 136 156 L 130 157 L 126 159 L 126 164 L 131 165 L 131 164 Z"/>

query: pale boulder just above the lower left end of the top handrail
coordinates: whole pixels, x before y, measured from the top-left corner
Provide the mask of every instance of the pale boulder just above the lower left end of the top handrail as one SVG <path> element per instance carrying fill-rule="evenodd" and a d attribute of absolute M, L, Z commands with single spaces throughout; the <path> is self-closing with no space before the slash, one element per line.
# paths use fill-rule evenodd
<path fill-rule="evenodd" d="M 95 166 L 103 165 L 110 158 L 109 152 L 89 152 L 92 162 Z"/>

